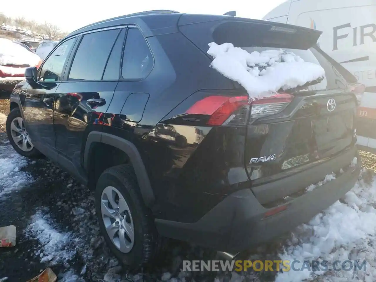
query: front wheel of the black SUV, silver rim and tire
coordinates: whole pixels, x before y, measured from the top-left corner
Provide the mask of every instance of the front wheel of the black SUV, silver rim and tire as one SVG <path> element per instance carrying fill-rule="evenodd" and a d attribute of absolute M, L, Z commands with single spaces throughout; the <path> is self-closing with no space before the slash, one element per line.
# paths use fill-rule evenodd
<path fill-rule="evenodd" d="M 27 132 L 19 108 L 12 109 L 9 113 L 6 119 L 6 133 L 9 142 L 20 155 L 28 158 L 41 156 L 41 153 L 34 147 L 29 133 Z"/>

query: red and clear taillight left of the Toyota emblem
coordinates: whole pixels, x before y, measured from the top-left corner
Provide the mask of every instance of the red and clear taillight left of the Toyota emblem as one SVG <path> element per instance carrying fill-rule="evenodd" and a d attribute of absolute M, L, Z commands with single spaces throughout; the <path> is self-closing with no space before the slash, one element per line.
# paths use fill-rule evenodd
<path fill-rule="evenodd" d="M 185 114 L 209 115 L 206 124 L 245 125 L 251 109 L 251 119 L 281 112 L 294 98 L 293 95 L 277 93 L 263 99 L 250 100 L 249 96 L 209 96 L 194 103 Z"/>

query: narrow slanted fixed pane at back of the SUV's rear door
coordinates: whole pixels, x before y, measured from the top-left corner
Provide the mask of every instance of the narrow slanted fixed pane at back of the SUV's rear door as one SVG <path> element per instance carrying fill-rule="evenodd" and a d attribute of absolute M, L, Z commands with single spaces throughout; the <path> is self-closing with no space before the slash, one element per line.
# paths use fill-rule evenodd
<path fill-rule="evenodd" d="M 121 30 L 116 39 L 114 48 L 112 48 L 110 58 L 108 59 L 103 79 L 119 79 L 121 52 L 123 52 L 123 43 L 126 29 Z"/>

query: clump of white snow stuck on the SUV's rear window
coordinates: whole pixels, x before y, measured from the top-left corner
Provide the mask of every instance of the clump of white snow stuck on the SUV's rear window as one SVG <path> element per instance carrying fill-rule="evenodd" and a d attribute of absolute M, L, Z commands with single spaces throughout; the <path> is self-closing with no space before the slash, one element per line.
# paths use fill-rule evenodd
<path fill-rule="evenodd" d="M 231 43 L 218 45 L 211 42 L 208 54 L 214 58 L 211 67 L 240 83 L 250 98 L 270 96 L 279 89 L 303 86 L 325 76 L 320 65 L 305 62 L 294 53 L 282 49 L 248 53 Z"/>

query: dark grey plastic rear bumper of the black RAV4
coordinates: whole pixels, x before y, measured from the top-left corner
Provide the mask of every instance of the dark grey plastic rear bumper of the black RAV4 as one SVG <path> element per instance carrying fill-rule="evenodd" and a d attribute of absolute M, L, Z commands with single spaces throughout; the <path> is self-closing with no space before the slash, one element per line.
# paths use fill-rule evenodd
<path fill-rule="evenodd" d="M 227 196 L 196 223 L 156 219 L 156 227 L 165 237 L 219 251 L 240 252 L 308 222 L 343 197 L 355 185 L 360 173 L 361 161 L 354 149 L 355 154 L 358 163 L 354 167 L 337 175 L 335 180 L 287 202 L 287 209 L 271 217 L 263 219 L 269 209 L 258 202 L 250 189 L 244 189 Z M 310 170 L 314 174 L 320 166 Z M 296 182 L 289 184 L 296 185 Z"/>

